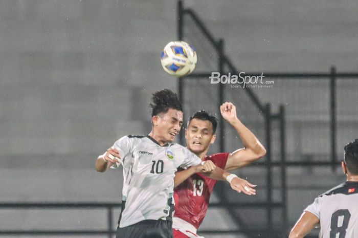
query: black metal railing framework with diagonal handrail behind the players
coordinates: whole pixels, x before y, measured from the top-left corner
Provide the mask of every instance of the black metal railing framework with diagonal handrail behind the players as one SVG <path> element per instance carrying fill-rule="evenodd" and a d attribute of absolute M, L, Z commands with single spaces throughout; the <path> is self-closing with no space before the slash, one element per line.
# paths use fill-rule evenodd
<path fill-rule="evenodd" d="M 218 58 L 217 62 L 217 71 L 223 75 L 228 74 L 229 72 L 225 72 L 225 66 L 229 69 L 231 74 L 238 75 L 238 70 L 230 60 L 230 58 L 225 54 L 224 51 L 224 44 L 223 39 L 215 39 L 213 34 L 209 31 L 209 29 L 205 26 L 203 21 L 198 17 L 198 15 L 192 10 L 184 8 L 183 2 L 178 1 L 178 7 L 177 7 L 177 37 L 178 40 L 184 39 L 184 26 L 185 26 L 185 17 L 190 18 L 194 25 L 199 29 L 200 32 L 204 35 L 204 37 L 210 42 L 211 47 L 215 50 Z M 246 75 L 260 75 L 260 73 L 257 72 L 245 72 Z M 209 80 L 209 77 L 211 76 L 211 72 L 199 72 L 199 73 L 191 73 L 184 78 L 180 78 L 178 80 L 178 95 L 183 100 L 183 92 L 185 90 L 185 84 L 187 80 Z M 288 224 L 287 224 L 287 186 L 286 186 L 286 168 L 291 166 L 324 166 L 324 165 L 330 165 L 332 171 L 337 168 L 339 165 L 339 162 L 337 161 L 337 152 L 336 152 L 336 137 L 337 137 L 337 103 L 336 103 L 336 81 L 337 79 L 350 79 L 350 78 L 358 78 L 358 73 L 356 72 L 348 72 L 348 73 L 338 73 L 336 68 L 334 66 L 331 67 L 330 71 L 327 73 L 322 72 L 312 72 L 312 73 L 265 73 L 266 78 L 273 78 L 273 79 L 299 79 L 299 78 L 309 78 L 309 79 L 327 79 L 330 80 L 329 84 L 329 100 L 330 100 L 330 160 L 329 161 L 287 161 L 286 160 L 286 131 L 285 131 L 285 107 L 281 104 L 280 110 L 278 114 L 273 114 L 271 112 L 271 106 L 270 104 L 263 104 L 259 98 L 255 95 L 253 90 L 250 88 L 245 88 L 244 93 L 248 95 L 248 97 L 251 99 L 251 101 L 254 103 L 254 105 L 257 107 L 257 110 L 261 112 L 261 115 L 264 117 L 265 122 L 265 146 L 266 146 L 266 161 L 265 162 L 259 162 L 256 163 L 256 165 L 259 166 L 265 166 L 267 169 L 266 174 L 266 187 L 267 187 L 267 200 L 265 202 L 259 202 L 255 203 L 257 207 L 265 207 L 267 210 L 267 227 L 265 229 L 257 230 L 256 233 L 252 233 L 251 231 L 245 232 L 249 237 L 255 236 L 255 234 L 260 234 L 261 237 L 286 237 L 286 234 L 288 232 Z M 217 108 L 219 108 L 219 105 L 221 105 L 224 102 L 224 90 L 222 83 L 219 83 L 219 87 L 216 91 L 217 93 Z M 185 107 L 185 105 L 184 105 Z M 280 146 L 280 160 L 279 161 L 272 161 L 272 123 L 274 121 L 278 121 L 279 123 L 279 146 Z M 219 148 L 220 151 L 225 151 L 225 124 L 223 123 L 223 119 L 219 117 L 219 135 L 217 139 L 219 140 Z M 181 143 L 184 143 L 184 136 L 181 134 Z M 274 167 L 279 167 L 281 172 L 281 202 L 275 203 L 273 201 L 273 176 L 272 176 L 272 169 Z M 219 196 L 220 197 L 220 196 Z M 221 198 L 221 202 L 225 202 L 225 198 Z M 281 207 L 282 208 L 282 229 L 277 233 L 277 231 L 272 230 L 273 225 L 273 218 L 272 218 L 272 210 L 273 208 Z M 231 214 L 233 211 L 228 207 L 228 212 Z M 237 223 L 239 224 L 242 219 L 239 219 L 239 214 L 231 214 L 231 217 L 233 220 L 237 220 Z M 245 225 L 245 224 L 241 224 Z M 242 230 L 241 230 L 242 231 Z M 231 233 L 235 233 L 235 231 L 230 231 Z M 239 231 L 236 231 L 239 232 Z M 225 233 L 223 231 L 218 231 L 218 233 Z M 262 236 L 265 234 L 265 236 Z M 280 234 L 278 236 L 278 234 Z M 255 236 L 256 237 L 256 236 Z M 309 237 L 309 236 L 307 236 Z"/>

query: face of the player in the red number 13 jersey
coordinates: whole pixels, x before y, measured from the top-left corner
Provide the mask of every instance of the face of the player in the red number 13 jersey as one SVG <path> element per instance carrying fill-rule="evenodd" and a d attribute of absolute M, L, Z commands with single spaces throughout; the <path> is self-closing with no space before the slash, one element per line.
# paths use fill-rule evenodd
<path fill-rule="evenodd" d="M 214 143 L 213 125 L 208 120 L 192 119 L 185 133 L 187 147 L 194 154 L 200 154 Z"/>

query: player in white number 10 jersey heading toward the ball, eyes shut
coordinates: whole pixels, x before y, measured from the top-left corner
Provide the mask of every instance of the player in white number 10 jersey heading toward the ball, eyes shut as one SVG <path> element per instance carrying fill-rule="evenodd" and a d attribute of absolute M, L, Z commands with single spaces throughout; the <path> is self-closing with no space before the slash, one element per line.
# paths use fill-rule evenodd
<path fill-rule="evenodd" d="M 122 211 L 117 238 L 171 238 L 174 176 L 178 167 L 195 166 L 207 176 L 225 180 L 230 174 L 211 161 L 202 163 L 186 147 L 171 143 L 183 123 L 182 105 L 176 94 L 153 94 L 152 129 L 148 136 L 124 136 L 96 160 L 96 170 L 123 165 Z M 231 175 L 231 177 L 233 177 Z M 242 180 L 230 181 L 239 191 Z"/>

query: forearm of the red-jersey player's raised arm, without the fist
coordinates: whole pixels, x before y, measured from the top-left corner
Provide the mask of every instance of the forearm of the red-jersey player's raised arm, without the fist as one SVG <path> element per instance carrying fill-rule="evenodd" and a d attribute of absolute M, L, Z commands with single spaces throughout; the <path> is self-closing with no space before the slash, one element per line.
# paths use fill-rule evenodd
<path fill-rule="evenodd" d="M 246 127 L 239 119 L 231 121 L 230 124 L 236 129 L 242 144 L 245 148 L 249 148 L 254 152 L 258 158 L 266 154 L 265 147 L 256 138 L 256 136 Z"/>

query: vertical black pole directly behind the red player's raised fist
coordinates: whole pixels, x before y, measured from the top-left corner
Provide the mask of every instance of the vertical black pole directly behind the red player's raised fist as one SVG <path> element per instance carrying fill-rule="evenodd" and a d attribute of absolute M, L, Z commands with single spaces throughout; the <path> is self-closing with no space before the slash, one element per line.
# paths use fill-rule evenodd
<path fill-rule="evenodd" d="M 219 39 L 219 41 L 217 42 L 217 46 L 218 46 L 218 68 L 219 68 L 219 73 L 222 74 L 224 69 L 224 62 L 223 62 L 223 39 Z M 220 131 L 220 152 L 224 152 L 225 151 L 225 129 L 224 129 L 224 121 L 223 118 L 220 115 L 220 106 L 223 103 L 223 84 L 219 83 L 219 103 L 217 105 L 217 109 L 218 109 L 218 118 L 219 118 L 219 131 Z"/>

